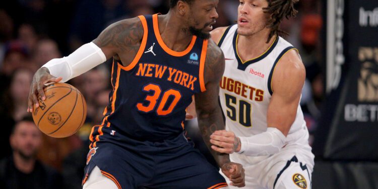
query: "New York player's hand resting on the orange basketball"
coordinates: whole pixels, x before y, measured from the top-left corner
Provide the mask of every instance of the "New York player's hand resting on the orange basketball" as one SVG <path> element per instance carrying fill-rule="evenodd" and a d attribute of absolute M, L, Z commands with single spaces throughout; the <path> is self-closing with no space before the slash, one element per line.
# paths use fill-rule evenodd
<path fill-rule="evenodd" d="M 41 96 L 42 100 L 45 100 L 45 94 L 43 92 L 43 87 L 46 83 L 57 83 L 62 78 L 56 78 L 48 73 L 47 68 L 40 68 L 34 74 L 33 81 L 30 86 L 30 92 L 28 97 L 28 112 L 33 112 L 33 104 L 35 108 L 38 108 L 38 95 Z"/>

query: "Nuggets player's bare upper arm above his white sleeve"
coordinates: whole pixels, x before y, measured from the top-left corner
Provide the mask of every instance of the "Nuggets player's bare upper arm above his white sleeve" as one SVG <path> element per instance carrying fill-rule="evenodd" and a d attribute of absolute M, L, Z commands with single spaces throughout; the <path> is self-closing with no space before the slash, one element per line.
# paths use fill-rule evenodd
<path fill-rule="evenodd" d="M 273 72 L 268 127 L 275 127 L 287 136 L 296 117 L 304 80 L 304 65 L 298 52 L 292 49 L 283 55 Z"/>

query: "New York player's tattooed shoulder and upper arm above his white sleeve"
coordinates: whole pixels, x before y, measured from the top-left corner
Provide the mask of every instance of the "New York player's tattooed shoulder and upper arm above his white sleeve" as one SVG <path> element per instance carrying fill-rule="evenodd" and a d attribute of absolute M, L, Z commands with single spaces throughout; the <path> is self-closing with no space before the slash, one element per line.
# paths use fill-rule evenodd
<path fill-rule="evenodd" d="M 114 56 L 119 60 L 119 56 L 124 56 L 122 53 L 127 52 L 130 57 L 137 54 L 143 33 L 143 25 L 139 18 L 125 19 L 105 28 L 92 42 L 101 48 L 106 59 Z"/>

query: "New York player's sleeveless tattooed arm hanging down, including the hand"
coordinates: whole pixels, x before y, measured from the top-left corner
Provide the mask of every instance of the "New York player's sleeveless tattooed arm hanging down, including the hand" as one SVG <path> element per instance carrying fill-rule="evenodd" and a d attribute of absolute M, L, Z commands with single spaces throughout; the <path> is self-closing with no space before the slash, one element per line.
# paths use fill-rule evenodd
<path fill-rule="evenodd" d="M 216 152 L 211 148 L 211 134 L 225 129 L 218 101 L 219 82 L 223 76 L 225 61 L 222 50 L 212 40 L 209 40 L 207 52 L 204 72 L 206 91 L 195 96 L 198 125 L 205 144 L 222 172 L 231 180 L 230 184 L 241 187 L 245 185 L 242 166 L 230 162 L 228 154 Z"/>

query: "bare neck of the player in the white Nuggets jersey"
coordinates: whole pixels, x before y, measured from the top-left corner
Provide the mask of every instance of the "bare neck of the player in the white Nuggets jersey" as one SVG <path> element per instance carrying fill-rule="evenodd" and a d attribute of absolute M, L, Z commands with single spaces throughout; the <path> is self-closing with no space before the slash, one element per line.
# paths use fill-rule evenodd
<path fill-rule="evenodd" d="M 272 45 L 275 37 L 267 43 L 270 30 L 264 29 L 253 35 L 239 35 L 237 40 L 238 54 L 243 61 L 259 57 Z"/>

